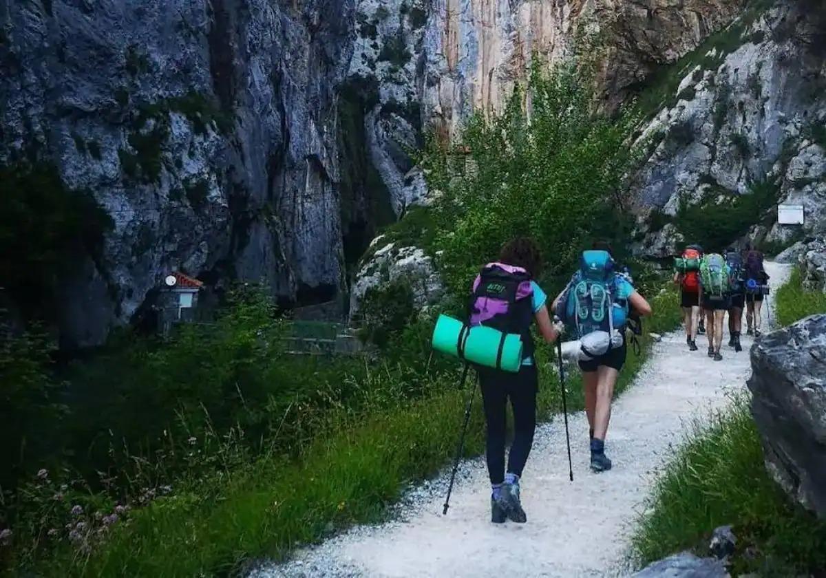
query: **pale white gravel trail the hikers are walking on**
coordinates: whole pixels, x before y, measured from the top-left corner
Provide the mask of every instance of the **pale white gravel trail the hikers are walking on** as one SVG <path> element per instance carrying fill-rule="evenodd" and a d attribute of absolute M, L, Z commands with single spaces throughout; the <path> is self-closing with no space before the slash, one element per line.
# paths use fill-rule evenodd
<path fill-rule="evenodd" d="M 780 287 L 790 266 L 766 264 Z M 763 329 L 773 295 L 763 307 Z M 743 315 L 745 329 L 745 315 Z M 615 404 L 607 440 L 614 470 L 588 470 L 584 412 L 571 416 L 574 481 L 567 478 L 563 420 L 537 430 L 522 495 L 527 524 L 490 523 L 490 488 L 482 459 L 464 462 L 450 513 L 442 515 L 444 476 L 411 489 L 397 519 L 353 528 L 283 565 L 265 565 L 254 578 L 275 576 L 622 576 L 629 537 L 655 474 L 679 443 L 687 421 L 727 403 L 745 387 L 752 338 L 742 353 L 724 335 L 722 362 L 689 352 L 685 334 L 666 334 L 633 386 Z M 458 416 L 457 416 L 458 419 Z"/>

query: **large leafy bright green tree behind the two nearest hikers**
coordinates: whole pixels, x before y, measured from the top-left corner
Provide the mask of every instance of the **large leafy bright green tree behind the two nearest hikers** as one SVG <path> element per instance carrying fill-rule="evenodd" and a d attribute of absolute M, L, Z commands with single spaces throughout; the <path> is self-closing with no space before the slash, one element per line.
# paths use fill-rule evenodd
<path fill-rule="evenodd" d="M 517 90 L 501 115 L 474 116 L 457 146 L 429 141 L 423 164 L 430 187 L 444 192 L 434 245 L 453 291 L 466 291 L 517 232 L 548 249 L 548 276 L 569 274 L 593 239 L 616 241 L 625 256 L 632 223 L 622 179 L 636 161 L 626 140 L 637 117 L 591 111 L 591 83 L 571 65 L 534 68 L 528 90 L 530 122 Z"/>

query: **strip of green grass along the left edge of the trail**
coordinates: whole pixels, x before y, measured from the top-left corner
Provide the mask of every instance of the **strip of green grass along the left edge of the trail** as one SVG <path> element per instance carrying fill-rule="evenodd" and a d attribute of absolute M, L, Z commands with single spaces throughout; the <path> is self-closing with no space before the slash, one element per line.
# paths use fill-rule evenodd
<path fill-rule="evenodd" d="M 666 306 L 676 310 L 671 301 L 671 292 L 653 300 L 658 313 Z M 651 325 L 673 328 L 672 321 L 657 315 Z M 537 354 L 541 419 L 560 409 L 550 351 L 542 345 Z M 633 381 L 647 354 L 648 339 L 639 356 L 629 350 L 617 395 Z M 342 419 L 333 434 L 316 439 L 296 461 L 265 456 L 208 481 L 184 482 L 175 495 L 136 510 L 131 523 L 121 525 L 88 560 L 64 547 L 38 570 L 74 576 L 225 574 L 256 557 L 280 559 L 297 545 L 350 524 L 380 521 L 408 482 L 432 476 L 453 456 L 467 392 L 458 390 L 457 382 L 458 370 L 443 373 L 420 399 Z M 571 372 L 567 390 L 569 409 L 582 409 L 578 372 Z M 478 401 L 477 396 L 467 456 L 483 451 Z"/>

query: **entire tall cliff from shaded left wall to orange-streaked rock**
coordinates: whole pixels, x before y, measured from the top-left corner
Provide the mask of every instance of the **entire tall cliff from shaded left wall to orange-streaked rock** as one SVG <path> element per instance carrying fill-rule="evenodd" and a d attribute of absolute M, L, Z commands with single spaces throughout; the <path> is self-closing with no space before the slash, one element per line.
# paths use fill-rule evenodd
<path fill-rule="evenodd" d="M 66 343 L 101 343 L 175 268 L 320 301 L 377 225 L 425 201 L 425 130 L 500 109 L 532 54 L 587 37 L 615 107 L 739 7 L 0 0 L 0 163 L 54 163 L 114 220 L 102 254 L 59 279 Z"/>

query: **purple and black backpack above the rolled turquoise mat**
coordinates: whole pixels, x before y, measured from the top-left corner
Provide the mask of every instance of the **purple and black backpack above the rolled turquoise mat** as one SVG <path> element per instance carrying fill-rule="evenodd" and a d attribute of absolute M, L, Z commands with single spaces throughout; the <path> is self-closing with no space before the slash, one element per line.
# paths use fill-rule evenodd
<path fill-rule="evenodd" d="M 534 354 L 530 324 L 534 320 L 534 289 L 525 269 L 488 263 L 473 282 L 469 325 L 485 325 L 503 334 L 522 336 L 522 357 Z"/>

